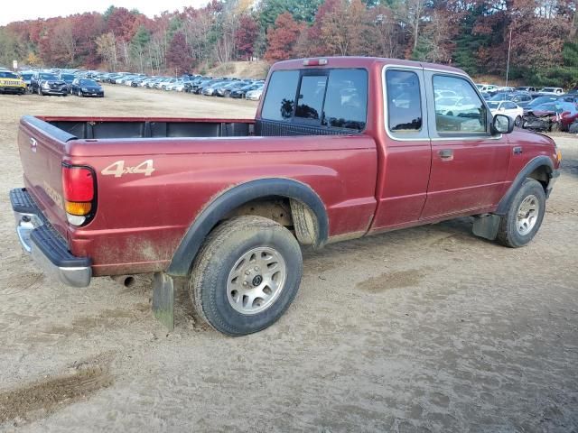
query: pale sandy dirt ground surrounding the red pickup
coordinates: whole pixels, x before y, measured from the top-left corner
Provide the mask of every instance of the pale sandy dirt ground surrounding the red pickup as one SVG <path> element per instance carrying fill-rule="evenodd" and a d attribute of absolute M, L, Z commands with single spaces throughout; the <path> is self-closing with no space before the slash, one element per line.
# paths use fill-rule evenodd
<path fill-rule="evenodd" d="M 178 293 L 167 334 L 149 279 L 87 289 L 21 252 L 21 115 L 250 117 L 256 104 L 107 87 L 104 99 L 0 96 L 0 430 L 578 431 L 578 138 L 535 241 L 460 219 L 305 253 L 275 326 L 230 338 Z"/>

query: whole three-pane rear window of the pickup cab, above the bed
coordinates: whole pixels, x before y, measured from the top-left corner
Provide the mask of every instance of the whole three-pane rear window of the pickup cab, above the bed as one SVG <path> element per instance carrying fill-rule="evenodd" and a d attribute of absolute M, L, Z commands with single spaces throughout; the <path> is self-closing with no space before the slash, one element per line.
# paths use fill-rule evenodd
<path fill-rule="evenodd" d="M 367 111 L 365 69 L 277 70 L 269 80 L 261 116 L 361 131 Z"/>

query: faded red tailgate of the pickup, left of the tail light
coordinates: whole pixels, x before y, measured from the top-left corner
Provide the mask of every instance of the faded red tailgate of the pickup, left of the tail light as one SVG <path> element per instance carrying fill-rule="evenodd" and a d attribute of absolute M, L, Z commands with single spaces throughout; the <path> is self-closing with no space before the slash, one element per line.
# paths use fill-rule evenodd
<path fill-rule="evenodd" d="M 18 150 L 23 165 L 24 186 L 42 214 L 68 242 L 62 198 L 62 160 L 66 143 L 74 135 L 26 115 L 20 120 Z"/>

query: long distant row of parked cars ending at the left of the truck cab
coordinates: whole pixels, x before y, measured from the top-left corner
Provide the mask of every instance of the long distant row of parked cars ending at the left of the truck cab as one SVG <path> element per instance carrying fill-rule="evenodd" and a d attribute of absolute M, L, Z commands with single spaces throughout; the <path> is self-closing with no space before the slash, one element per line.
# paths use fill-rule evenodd
<path fill-rule="evenodd" d="M 132 88 L 155 88 L 158 90 L 194 93 L 206 97 L 233 97 L 259 100 L 265 84 L 263 79 L 212 78 L 201 75 L 183 75 L 181 78 L 148 77 L 129 72 L 94 73 L 97 81 L 120 84 Z"/>

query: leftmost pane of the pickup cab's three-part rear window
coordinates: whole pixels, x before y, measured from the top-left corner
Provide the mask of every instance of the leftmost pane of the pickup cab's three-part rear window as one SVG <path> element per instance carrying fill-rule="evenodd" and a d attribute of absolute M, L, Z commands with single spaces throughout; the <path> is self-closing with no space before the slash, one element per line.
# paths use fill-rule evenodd
<path fill-rule="evenodd" d="M 273 73 L 263 104 L 264 118 L 287 120 L 293 117 L 298 82 L 298 70 L 277 70 Z"/>

